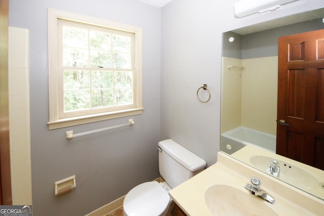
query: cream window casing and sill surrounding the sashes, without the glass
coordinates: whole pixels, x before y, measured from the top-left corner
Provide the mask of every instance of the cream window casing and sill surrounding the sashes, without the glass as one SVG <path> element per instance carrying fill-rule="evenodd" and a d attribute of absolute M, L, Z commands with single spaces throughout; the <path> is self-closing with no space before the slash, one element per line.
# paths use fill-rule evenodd
<path fill-rule="evenodd" d="M 62 117 L 60 113 L 62 106 L 60 101 L 63 100 L 62 91 L 59 86 L 62 86 L 62 77 L 58 70 L 58 19 L 95 25 L 115 30 L 127 31 L 135 34 L 135 65 L 136 72 L 134 73 L 134 106 L 132 108 L 115 109 L 113 111 L 102 113 L 90 113 L 86 115 L 74 117 Z M 89 17 L 85 15 L 60 11 L 56 9 L 48 10 L 48 52 L 49 52 L 49 129 L 56 129 L 77 124 L 102 121 L 107 119 L 138 115 L 143 113 L 142 106 L 142 28 L 121 23 L 116 23 L 99 18 Z"/>

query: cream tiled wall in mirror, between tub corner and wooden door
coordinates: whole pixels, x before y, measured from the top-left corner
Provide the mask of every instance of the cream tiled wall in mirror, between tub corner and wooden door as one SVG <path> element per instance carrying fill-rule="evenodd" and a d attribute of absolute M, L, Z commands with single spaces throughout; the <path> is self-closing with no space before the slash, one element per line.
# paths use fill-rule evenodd
<path fill-rule="evenodd" d="M 278 57 L 244 59 L 242 65 L 241 126 L 275 135 Z"/>

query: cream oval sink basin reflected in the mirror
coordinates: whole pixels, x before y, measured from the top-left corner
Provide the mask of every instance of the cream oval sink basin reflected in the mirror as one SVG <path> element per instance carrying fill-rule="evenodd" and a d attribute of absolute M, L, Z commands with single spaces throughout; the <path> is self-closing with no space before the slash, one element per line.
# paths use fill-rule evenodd
<path fill-rule="evenodd" d="M 299 168 L 298 166 L 268 156 L 256 155 L 250 158 L 250 162 L 257 169 L 262 171 L 266 171 L 269 168 L 271 160 L 276 160 L 279 163 L 280 174 L 278 179 L 285 181 L 288 184 L 292 184 L 302 190 L 322 190 L 320 181 L 318 181 L 317 178 L 308 171 Z"/>

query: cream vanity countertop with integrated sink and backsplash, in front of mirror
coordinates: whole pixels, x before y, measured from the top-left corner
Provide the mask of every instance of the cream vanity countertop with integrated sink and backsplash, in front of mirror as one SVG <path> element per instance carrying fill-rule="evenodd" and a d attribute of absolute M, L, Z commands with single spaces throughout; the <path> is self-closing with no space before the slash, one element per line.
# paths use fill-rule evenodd
<path fill-rule="evenodd" d="M 252 178 L 273 202 L 254 195 L 245 186 Z M 273 178 L 263 171 L 218 153 L 218 161 L 169 191 L 180 208 L 200 215 L 322 215 L 324 200 Z M 263 194 L 265 195 L 265 194 Z"/>

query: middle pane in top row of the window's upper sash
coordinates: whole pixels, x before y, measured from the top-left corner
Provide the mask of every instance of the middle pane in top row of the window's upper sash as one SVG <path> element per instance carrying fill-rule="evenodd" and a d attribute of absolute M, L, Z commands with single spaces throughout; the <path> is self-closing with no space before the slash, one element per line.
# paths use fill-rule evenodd
<path fill-rule="evenodd" d="M 110 34 L 100 31 L 90 31 L 90 49 L 110 51 Z"/>

